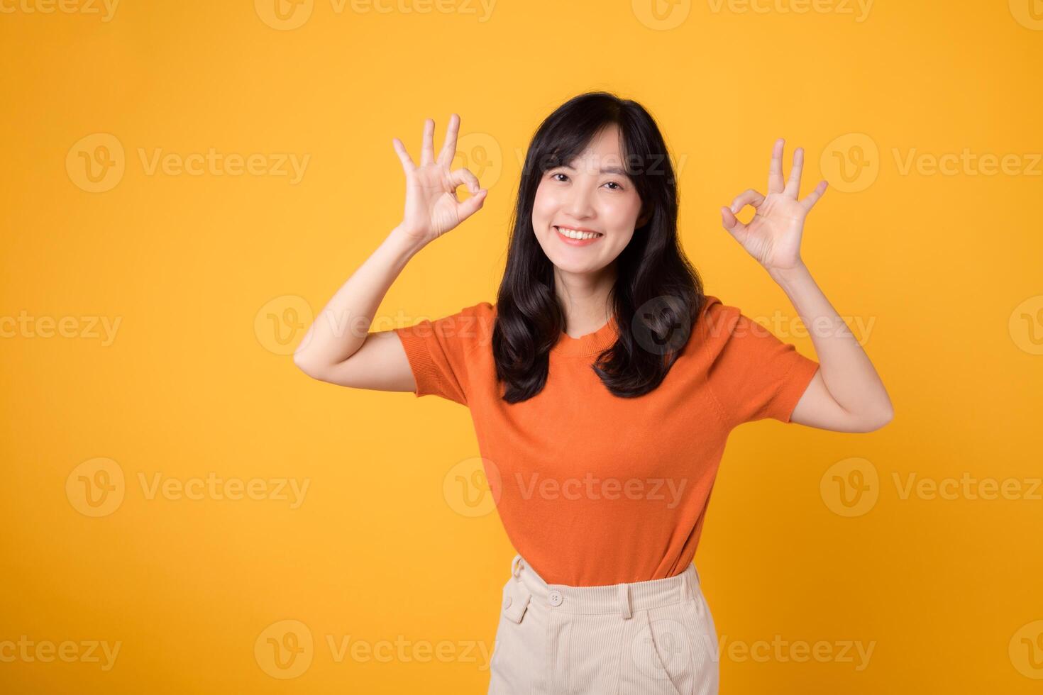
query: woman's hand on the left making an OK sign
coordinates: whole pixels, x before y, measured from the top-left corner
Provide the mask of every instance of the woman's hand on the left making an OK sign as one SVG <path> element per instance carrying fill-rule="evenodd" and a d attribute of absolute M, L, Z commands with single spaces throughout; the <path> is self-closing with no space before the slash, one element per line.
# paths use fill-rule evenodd
<path fill-rule="evenodd" d="M 460 117 L 453 114 L 445 131 L 445 142 L 435 159 L 435 122 L 427 119 L 423 122 L 423 147 L 419 167 L 413 164 L 401 140 L 394 138 L 391 141 L 406 172 L 406 212 L 398 228 L 418 247 L 456 227 L 478 212 L 485 202 L 488 191 L 479 185 L 475 174 L 466 168 L 450 171 L 456 154 L 459 128 Z M 471 195 L 460 202 L 456 197 L 456 189 L 464 184 Z"/>

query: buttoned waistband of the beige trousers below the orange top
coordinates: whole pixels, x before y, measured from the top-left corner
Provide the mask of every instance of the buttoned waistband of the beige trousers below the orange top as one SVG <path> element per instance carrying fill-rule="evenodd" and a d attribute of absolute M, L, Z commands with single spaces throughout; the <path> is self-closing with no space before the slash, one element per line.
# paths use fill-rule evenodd
<path fill-rule="evenodd" d="M 630 618 L 635 611 L 696 598 L 700 591 L 699 573 L 693 564 L 680 574 L 662 579 L 602 587 L 572 587 L 547 584 L 520 554 L 515 554 L 511 561 L 510 580 L 517 581 L 525 588 L 531 595 L 532 603 L 548 610 L 587 615 L 617 613 L 623 618 Z"/>

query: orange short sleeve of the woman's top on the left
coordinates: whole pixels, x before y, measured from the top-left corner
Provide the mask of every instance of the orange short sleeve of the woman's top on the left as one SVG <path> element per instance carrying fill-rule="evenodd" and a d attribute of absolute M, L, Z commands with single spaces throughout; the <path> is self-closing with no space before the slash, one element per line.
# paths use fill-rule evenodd
<path fill-rule="evenodd" d="M 491 305 L 481 302 L 456 314 L 394 328 L 416 381 L 414 394 L 441 396 L 467 405 L 468 354 L 484 344 Z"/>

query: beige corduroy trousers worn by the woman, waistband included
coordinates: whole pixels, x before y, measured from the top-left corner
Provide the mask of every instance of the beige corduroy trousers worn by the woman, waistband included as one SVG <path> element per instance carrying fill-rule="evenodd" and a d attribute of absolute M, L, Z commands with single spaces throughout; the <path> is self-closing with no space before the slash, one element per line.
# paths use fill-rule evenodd
<path fill-rule="evenodd" d="M 695 565 L 603 587 L 548 585 L 514 555 L 489 695 L 717 695 L 717 628 Z"/>

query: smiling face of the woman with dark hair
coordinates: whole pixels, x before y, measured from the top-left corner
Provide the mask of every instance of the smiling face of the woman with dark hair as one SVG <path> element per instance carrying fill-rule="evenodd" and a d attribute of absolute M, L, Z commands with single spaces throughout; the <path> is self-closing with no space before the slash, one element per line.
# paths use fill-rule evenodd
<path fill-rule="evenodd" d="M 543 172 L 536 189 L 532 227 L 543 253 L 559 270 L 595 273 L 611 264 L 630 243 L 634 227 L 639 226 L 640 210 L 641 200 L 624 171 L 620 129 L 613 123 L 568 166 Z M 587 231 L 597 234 L 587 239 Z M 583 239 L 578 239 L 580 235 Z"/>

